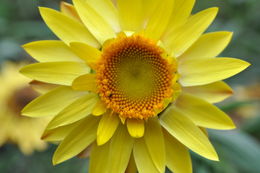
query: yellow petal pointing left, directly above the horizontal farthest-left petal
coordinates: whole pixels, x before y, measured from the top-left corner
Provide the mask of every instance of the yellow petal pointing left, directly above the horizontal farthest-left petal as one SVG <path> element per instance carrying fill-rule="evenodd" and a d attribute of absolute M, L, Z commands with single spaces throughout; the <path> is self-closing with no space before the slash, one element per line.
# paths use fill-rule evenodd
<path fill-rule="evenodd" d="M 58 40 L 35 41 L 23 45 L 23 48 L 34 59 L 40 62 L 83 62 L 65 43 Z"/>

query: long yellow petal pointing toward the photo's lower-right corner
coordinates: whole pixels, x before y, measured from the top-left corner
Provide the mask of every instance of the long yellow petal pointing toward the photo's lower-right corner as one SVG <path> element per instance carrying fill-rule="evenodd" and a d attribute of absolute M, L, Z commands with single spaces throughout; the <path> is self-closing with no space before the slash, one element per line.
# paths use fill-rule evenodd
<path fill-rule="evenodd" d="M 206 135 L 185 115 L 169 108 L 161 117 L 162 126 L 176 139 L 195 153 L 218 160 L 218 155 Z"/>

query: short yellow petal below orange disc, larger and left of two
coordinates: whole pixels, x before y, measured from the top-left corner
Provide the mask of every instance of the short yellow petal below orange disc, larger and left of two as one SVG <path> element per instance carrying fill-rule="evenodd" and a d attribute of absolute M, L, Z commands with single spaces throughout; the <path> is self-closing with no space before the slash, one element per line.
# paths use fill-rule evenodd
<path fill-rule="evenodd" d="M 103 145 L 113 136 L 119 124 L 118 115 L 108 112 L 104 114 L 98 124 L 97 143 Z"/>

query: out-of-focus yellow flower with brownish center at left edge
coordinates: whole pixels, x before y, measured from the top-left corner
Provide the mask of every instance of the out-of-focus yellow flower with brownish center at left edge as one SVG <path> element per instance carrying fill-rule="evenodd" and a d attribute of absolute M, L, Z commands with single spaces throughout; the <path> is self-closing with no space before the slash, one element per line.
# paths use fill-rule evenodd
<path fill-rule="evenodd" d="M 0 146 L 6 142 L 15 143 L 26 155 L 35 149 L 44 150 L 47 145 L 40 137 L 47 125 L 46 118 L 27 118 L 20 113 L 38 93 L 28 86 L 29 80 L 18 73 L 21 65 L 4 63 L 1 67 Z"/>

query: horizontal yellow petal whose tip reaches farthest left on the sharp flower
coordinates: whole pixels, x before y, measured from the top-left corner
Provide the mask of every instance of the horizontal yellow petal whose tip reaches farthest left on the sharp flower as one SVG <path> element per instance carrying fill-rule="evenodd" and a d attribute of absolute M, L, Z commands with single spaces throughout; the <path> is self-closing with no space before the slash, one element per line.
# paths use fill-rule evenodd
<path fill-rule="evenodd" d="M 71 85 L 74 79 L 89 71 L 88 66 L 78 62 L 35 63 L 20 70 L 23 75 L 31 79 L 60 85 Z"/>

